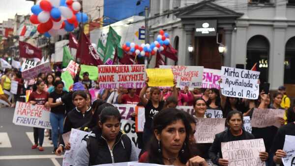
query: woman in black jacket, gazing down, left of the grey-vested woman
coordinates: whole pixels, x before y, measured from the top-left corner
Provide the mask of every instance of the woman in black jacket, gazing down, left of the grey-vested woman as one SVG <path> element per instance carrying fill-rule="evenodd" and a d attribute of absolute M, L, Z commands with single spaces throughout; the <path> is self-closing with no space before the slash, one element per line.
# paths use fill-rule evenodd
<path fill-rule="evenodd" d="M 63 134 L 71 131 L 72 128 L 80 128 L 85 123 L 89 122 L 92 117 L 91 107 L 87 104 L 87 93 L 84 90 L 75 91 L 72 100 L 76 108 L 68 112 L 65 117 Z M 59 137 L 59 148 L 56 150 L 57 155 L 60 155 L 63 151 L 63 147 L 68 150 L 71 148 L 71 145 L 69 142 L 63 142 L 63 139 Z"/>

